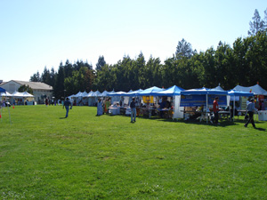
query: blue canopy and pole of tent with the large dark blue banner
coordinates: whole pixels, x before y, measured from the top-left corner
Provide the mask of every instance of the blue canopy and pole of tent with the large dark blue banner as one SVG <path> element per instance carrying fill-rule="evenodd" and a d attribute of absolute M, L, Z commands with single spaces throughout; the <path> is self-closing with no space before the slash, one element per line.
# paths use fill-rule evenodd
<path fill-rule="evenodd" d="M 205 95 L 206 96 L 206 116 L 207 116 L 207 108 L 208 108 L 208 95 L 223 95 L 226 97 L 226 95 L 228 94 L 228 92 L 226 91 L 221 91 L 221 90 L 217 90 L 217 89 L 209 89 L 206 87 L 203 88 L 199 88 L 199 89 L 190 89 L 190 90 L 185 90 L 185 91 L 181 91 L 181 95 Z M 226 99 L 226 98 L 225 98 Z M 181 100 L 182 103 L 182 100 Z M 203 101 L 201 101 L 201 103 L 203 103 Z M 207 123 L 207 117 L 206 117 L 206 123 Z"/>

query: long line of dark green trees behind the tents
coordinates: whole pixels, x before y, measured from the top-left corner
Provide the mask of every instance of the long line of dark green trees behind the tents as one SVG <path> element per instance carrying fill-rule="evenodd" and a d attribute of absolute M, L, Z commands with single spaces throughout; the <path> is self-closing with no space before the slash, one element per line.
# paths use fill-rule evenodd
<path fill-rule="evenodd" d="M 52 85 L 56 98 L 79 91 L 128 92 L 151 86 L 167 88 L 174 84 L 184 89 L 212 88 L 220 84 L 229 90 L 237 84 L 260 83 L 267 88 L 267 9 L 264 13 L 265 18 L 261 20 L 255 10 L 248 36 L 237 38 L 232 47 L 219 42 L 216 49 L 210 47 L 206 52 L 197 52 L 182 39 L 173 56 L 163 63 L 152 56 L 145 60 L 142 52 L 134 59 L 124 56 L 113 65 L 100 56 L 95 69 L 87 61 L 70 63 L 67 60 L 64 65 L 60 63 L 57 71 L 44 67 L 44 72 L 41 75 L 36 72 L 30 81 Z"/>

